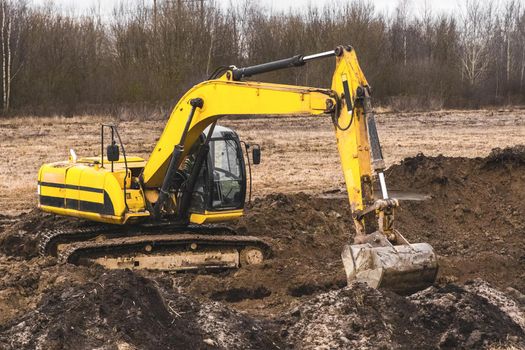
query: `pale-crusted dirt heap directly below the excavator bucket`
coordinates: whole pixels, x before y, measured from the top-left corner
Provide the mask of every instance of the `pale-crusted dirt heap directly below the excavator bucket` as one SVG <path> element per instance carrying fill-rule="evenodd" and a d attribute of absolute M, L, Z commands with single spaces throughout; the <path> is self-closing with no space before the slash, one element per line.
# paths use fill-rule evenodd
<path fill-rule="evenodd" d="M 283 336 L 301 349 L 391 348 L 420 343 L 409 300 L 363 284 L 317 295 L 284 315 Z M 408 333 L 408 332 L 410 333 Z M 409 334 L 413 336 L 407 339 Z"/>

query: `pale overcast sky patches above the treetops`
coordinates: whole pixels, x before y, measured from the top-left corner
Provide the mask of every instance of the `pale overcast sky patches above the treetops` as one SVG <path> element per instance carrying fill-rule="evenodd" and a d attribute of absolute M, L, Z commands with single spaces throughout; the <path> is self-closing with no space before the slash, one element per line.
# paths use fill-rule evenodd
<path fill-rule="evenodd" d="M 77 14 L 85 13 L 90 8 L 100 6 L 102 14 L 109 15 L 113 7 L 122 2 L 145 2 L 146 4 L 152 3 L 153 0 L 29 0 L 30 3 L 35 5 L 43 5 L 48 2 L 52 2 L 58 5 L 62 10 L 66 12 L 74 11 Z M 216 0 L 219 4 L 240 3 L 245 0 Z M 322 6 L 325 3 L 333 2 L 334 0 L 255 0 L 261 5 L 271 10 L 288 10 L 289 8 L 301 8 L 309 4 L 315 4 Z M 335 0 L 344 1 L 344 0 Z M 409 0 L 413 8 L 413 12 L 417 12 L 423 7 L 423 4 L 427 2 L 430 4 L 434 12 L 451 12 L 458 9 L 458 4 L 462 0 Z M 394 9 L 398 3 L 398 0 L 372 0 L 378 11 L 390 12 Z"/>

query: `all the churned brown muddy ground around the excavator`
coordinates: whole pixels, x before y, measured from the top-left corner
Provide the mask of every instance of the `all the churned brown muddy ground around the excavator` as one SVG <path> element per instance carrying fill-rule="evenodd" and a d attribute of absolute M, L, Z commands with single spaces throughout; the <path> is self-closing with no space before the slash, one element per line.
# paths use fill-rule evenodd
<path fill-rule="evenodd" d="M 214 274 L 106 271 L 37 254 L 32 211 L 0 217 L 0 348 L 525 348 L 525 147 L 406 158 L 387 171 L 397 228 L 439 255 L 436 284 L 400 296 L 353 284 L 345 194 L 257 198 L 234 227 L 267 240 L 259 266 Z"/>

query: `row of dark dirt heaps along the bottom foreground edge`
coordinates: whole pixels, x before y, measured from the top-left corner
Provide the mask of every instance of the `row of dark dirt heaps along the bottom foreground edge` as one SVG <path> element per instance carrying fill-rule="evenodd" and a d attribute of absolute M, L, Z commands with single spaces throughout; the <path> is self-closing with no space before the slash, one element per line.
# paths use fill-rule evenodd
<path fill-rule="evenodd" d="M 410 297 L 353 284 L 318 293 L 268 320 L 180 293 L 167 274 L 55 267 L 40 266 L 45 277 L 15 281 L 40 300 L 0 326 L 0 348 L 525 346 L 525 303 L 483 281 Z"/>

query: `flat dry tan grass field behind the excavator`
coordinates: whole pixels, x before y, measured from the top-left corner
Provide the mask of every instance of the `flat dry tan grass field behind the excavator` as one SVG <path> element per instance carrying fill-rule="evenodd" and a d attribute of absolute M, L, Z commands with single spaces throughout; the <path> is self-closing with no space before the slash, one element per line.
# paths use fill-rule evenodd
<path fill-rule="evenodd" d="M 147 158 L 163 120 L 128 121 L 104 116 L 14 118 L 0 121 L 0 212 L 16 214 L 36 204 L 36 176 L 42 163 L 99 153 L 99 125 L 119 125 L 128 155 Z M 485 156 L 495 147 L 525 143 L 525 109 L 382 113 L 379 133 L 387 164 L 425 155 Z M 228 120 L 247 142 L 262 147 L 254 167 L 254 195 L 322 192 L 342 187 L 342 174 L 327 117 Z"/>

